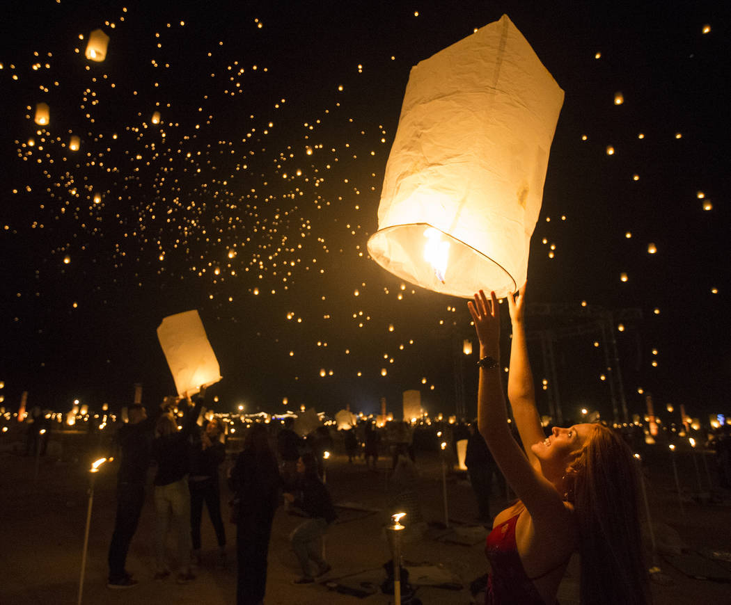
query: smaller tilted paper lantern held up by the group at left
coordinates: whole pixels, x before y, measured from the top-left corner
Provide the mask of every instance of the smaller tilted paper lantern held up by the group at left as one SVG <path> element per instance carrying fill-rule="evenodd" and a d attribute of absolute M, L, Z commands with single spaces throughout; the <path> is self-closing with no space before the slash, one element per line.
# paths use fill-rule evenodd
<path fill-rule="evenodd" d="M 157 338 L 173 374 L 178 396 L 186 391 L 194 395 L 201 385 L 208 387 L 219 382 L 219 362 L 197 310 L 165 317 L 157 327 Z"/>

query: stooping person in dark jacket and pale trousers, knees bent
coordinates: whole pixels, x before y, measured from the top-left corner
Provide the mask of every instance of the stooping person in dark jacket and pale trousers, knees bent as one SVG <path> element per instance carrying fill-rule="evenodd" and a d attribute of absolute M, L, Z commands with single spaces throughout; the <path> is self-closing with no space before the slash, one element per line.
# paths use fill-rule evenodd
<path fill-rule="evenodd" d="M 300 560 L 302 576 L 295 584 L 311 584 L 315 577 L 330 571 L 330 565 L 322 557 L 322 536 L 327 525 L 336 520 L 335 507 L 330 492 L 317 473 L 317 461 L 310 453 L 303 454 L 297 461 L 298 482 L 295 493 L 285 493 L 284 498 L 300 509 L 309 518 L 300 523 L 289 536 L 295 555 Z M 314 563 L 315 573 L 311 573 Z"/>

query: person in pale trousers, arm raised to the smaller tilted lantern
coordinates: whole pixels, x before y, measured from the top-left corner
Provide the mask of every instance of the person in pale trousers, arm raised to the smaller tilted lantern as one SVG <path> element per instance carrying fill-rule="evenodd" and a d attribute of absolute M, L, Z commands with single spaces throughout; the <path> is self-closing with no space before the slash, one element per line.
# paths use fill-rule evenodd
<path fill-rule="evenodd" d="M 155 425 L 156 439 L 152 444 L 152 453 L 157 462 L 155 475 L 155 556 L 157 570 L 155 579 L 164 579 L 170 575 L 165 562 L 165 542 L 170 529 L 175 532 L 178 542 L 178 584 L 186 584 L 195 578 L 191 566 L 190 537 L 190 490 L 189 474 L 189 439 L 197 428 L 196 421 L 200 414 L 205 389 L 201 389 L 195 405 L 183 417 L 183 425 L 178 424 L 172 414 L 160 416 Z M 186 400 L 182 400 L 183 402 Z"/>

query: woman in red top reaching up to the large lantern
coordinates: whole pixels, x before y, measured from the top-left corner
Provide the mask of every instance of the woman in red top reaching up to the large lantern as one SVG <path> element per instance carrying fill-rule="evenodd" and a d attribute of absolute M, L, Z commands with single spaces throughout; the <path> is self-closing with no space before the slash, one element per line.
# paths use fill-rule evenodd
<path fill-rule="evenodd" d="M 603 425 L 554 427 L 537 413 L 526 333 L 525 289 L 507 296 L 512 320 L 508 397 L 524 450 L 513 439 L 501 385 L 500 307 L 480 290 L 468 307 L 480 339 L 478 426 L 518 501 L 496 515 L 485 553 L 486 602 L 545 605 L 569 558 L 581 558 L 582 604 L 651 601 L 637 506 L 637 467 L 621 436 Z"/>

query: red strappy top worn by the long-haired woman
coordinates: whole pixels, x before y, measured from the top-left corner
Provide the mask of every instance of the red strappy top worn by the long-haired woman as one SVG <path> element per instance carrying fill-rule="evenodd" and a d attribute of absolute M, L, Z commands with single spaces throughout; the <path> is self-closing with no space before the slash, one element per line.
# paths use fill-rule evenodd
<path fill-rule="evenodd" d="M 518 555 L 518 544 L 515 542 L 515 525 L 518 523 L 520 513 L 510 517 L 504 523 L 493 528 L 488 534 L 485 544 L 485 555 L 487 555 L 492 571 L 488 577 L 488 593 L 485 605 L 545 605 L 545 601 L 538 593 L 534 579 L 539 579 L 545 574 L 536 578 L 529 578 L 526 570 L 523 569 L 523 562 Z M 563 565 L 564 563 L 561 563 Z M 560 567 L 560 566 L 559 566 Z M 556 601 L 558 605 L 558 601 Z"/>

